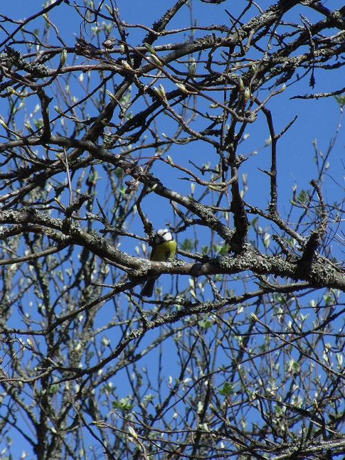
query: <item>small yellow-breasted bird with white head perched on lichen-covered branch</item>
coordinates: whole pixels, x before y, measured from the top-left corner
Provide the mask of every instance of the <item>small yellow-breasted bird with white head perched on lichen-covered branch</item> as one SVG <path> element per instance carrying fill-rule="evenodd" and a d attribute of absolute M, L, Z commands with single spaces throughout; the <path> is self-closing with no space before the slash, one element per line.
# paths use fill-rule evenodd
<path fill-rule="evenodd" d="M 150 260 L 153 262 L 162 262 L 164 260 L 173 259 L 176 249 L 177 243 L 174 238 L 172 238 L 170 231 L 168 231 L 168 229 L 159 229 L 155 234 Z M 141 289 L 141 296 L 152 297 L 157 278 L 158 276 L 154 276 L 146 281 L 143 289 Z"/>

